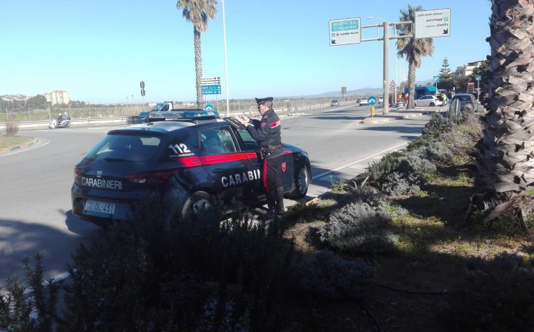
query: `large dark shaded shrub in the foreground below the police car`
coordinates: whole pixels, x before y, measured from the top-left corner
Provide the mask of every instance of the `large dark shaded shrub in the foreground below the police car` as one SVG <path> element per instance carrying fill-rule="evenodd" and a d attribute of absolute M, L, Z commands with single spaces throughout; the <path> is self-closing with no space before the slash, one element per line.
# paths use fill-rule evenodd
<path fill-rule="evenodd" d="M 152 199 L 152 201 L 150 201 Z M 234 331 L 284 321 L 294 257 L 276 222 L 216 211 L 164 219 L 157 199 L 80 247 L 69 271 L 67 331 Z"/>

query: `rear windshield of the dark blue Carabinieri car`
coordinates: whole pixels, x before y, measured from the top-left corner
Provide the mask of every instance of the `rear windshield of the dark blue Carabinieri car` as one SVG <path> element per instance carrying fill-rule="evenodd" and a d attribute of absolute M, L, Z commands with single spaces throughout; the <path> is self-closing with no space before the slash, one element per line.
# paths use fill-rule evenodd
<path fill-rule="evenodd" d="M 107 135 L 83 158 L 87 163 L 104 160 L 110 163 L 143 162 L 151 160 L 160 150 L 162 136 Z"/>

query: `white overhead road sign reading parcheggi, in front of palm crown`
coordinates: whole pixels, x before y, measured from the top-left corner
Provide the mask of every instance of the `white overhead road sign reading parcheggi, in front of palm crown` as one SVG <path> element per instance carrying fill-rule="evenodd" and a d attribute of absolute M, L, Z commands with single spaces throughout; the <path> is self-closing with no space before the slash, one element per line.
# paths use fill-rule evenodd
<path fill-rule="evenodd" d="M 451 9 L 415 12 L 415 38 L 447 37 L 451 35 Z"/>

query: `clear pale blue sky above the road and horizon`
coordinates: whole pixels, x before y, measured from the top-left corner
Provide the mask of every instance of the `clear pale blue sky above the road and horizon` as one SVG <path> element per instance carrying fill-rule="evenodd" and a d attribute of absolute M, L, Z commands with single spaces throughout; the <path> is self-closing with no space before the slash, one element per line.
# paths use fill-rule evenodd
<path fill-rule="evenodd" d="M 445 57 L 454 71 L 490 54 L 489 0 L 225 0 L 224 25 L 219 0 L 201 35 L 203 77 L 221 77 L 219 100 L 380 88 L 382 42 L 329 46 L 329 21 L 397 22 L 408 4 L 451 9 L 450 36 L 433 39 L 417 80 L 432 80 Z M 0 95 L 64 90 L 96 104 L 196 100 L 193 26 L 175 0 L 2 0 L 0 8 Z M 375 35 L 366 29 L 363 37 Z M 391 41 L 389 77 L 398 82 L 408 66 L 394 50 Z"/>

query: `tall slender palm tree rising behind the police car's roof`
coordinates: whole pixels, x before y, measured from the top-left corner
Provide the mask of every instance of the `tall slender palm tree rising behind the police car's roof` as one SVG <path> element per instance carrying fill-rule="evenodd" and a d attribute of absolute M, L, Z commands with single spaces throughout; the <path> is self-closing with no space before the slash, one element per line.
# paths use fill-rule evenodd
<path fill-rule="evenodd" d="M 193 23 L 193 42 L 195 44 L 195 73 L 196 73 L 196 104 L 203 108 L 200 79 L 202 78 L 202 52 L 200 48 L 200 33 L 207 31 L 208 19 L 217 15 L 217 0 L 178 0 L 176 8 L 182 10 L 186 21 Z"/>

